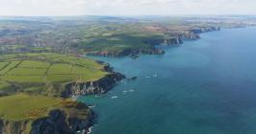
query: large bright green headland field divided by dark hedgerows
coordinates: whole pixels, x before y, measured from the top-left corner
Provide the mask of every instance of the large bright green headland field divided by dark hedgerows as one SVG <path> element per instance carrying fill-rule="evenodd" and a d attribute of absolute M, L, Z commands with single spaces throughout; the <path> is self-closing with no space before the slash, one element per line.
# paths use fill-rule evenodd
<path fill-rule="evenodd" d="M 0 91 L 5 92 L 11 85 L 17 91 L 34 91 L 41 90 L 41 87 L 35 88 L 41 84 L 90 81 L 108 74 L 103 64 L 79 56 L 28 53 L 0 57 Z"/>

